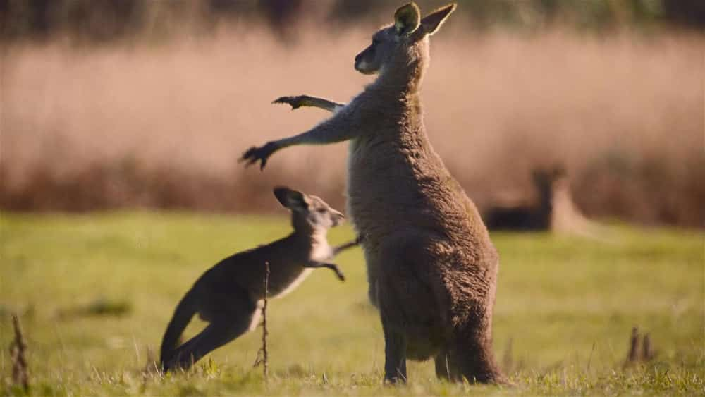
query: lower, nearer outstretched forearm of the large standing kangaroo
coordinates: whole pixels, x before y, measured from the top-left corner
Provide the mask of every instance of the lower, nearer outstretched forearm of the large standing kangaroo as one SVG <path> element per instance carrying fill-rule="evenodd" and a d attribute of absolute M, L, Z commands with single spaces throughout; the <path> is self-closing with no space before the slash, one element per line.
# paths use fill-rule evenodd
<path fill-rule="evenodd" d="M 360 123 L 355 121 L 353 111 L 343 107 L 343 109 L 333 114 L 333 117 L 305 133 L 266 142 L 261 147 L 250 147 L 243 154 L 243 157 L 240 157 L 239 161 L 245 162 L 245 166 L 250 166 L 260 161 L 259 169 L 264 169 L 269 157 L 278 150 L 294 145 L 326 145 L 350 140 L 360 134 L 359 126 Z"/>

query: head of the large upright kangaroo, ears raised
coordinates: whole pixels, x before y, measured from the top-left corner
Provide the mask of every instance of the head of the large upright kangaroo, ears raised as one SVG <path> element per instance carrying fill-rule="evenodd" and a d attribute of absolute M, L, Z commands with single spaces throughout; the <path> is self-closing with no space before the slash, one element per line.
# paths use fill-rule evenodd
<path fill-rule="evenodd" d="M 372 44 L 355 56 L 355 70 L 374 74 L 423 61 L 428 56 L 427 38 L 441 28 L 453 10 L 455 4 L 448 4 L 421 18 L 413 2 L 401 6 L 394 13 L 394 23 L 377 31 Z"/>

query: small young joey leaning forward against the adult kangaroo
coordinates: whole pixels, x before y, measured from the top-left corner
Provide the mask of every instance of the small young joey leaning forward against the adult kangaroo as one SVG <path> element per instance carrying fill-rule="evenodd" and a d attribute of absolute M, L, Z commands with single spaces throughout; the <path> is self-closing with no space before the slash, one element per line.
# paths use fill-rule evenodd
<path fill-rule="evenodd" d="M 181 299 L 161 341 L 164 371 L 188 369 L 204 355 L 259 324 L 264 300 L 265 262 L 269 262 L 269 294 L 279 298 L 296 288 L 318 267 L 343 272 L 327 263 L 351 242 L 332 248 L 326 240 L 329 228 L 343 221 L 343 214 L 316 196 L 288 188 L 275 188 L 274 195 L 291 210 L 293 233 L 258 248 L 239 252 L 207 270 Z M 210 324 L 190 341 L 178 340 L 194 314 Z"/>

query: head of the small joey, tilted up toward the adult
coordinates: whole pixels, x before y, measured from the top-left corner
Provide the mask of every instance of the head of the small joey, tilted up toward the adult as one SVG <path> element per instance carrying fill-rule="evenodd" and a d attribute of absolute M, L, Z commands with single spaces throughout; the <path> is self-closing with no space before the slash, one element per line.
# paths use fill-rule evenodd
<path fill-rule="evenodd" d="M 291 210 L 291 225 L 298 232 L 325 233 L 345 219 L 343 214 L 316 196 L 285 187 L 274 188 L 274 196 L 283 207 Z"/>

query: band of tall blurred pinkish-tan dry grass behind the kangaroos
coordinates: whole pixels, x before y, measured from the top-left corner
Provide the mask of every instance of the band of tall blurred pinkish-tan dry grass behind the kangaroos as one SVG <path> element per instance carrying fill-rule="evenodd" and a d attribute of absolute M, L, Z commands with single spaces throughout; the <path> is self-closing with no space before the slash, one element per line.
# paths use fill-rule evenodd
<path fill-rule="evenodd" d="M 344 144 L 287 149 L 262 174 L 235 161 L 327 116 L 272 99 L 346 101 L 369 83 L 353 58 L 370 33 L 310 28 L 284 46 L 231 28 L 162 44 L 6 47 L 0 204 L 262 210 L 275 207 L 271 185 L 286 183 L 341 207 Z M 432 39 L 429 136 L 481 206 L 529 194 L 530 170 L 560 161 L 588 214 L 702 226 L 704 44 L 452 25 Z"/>

